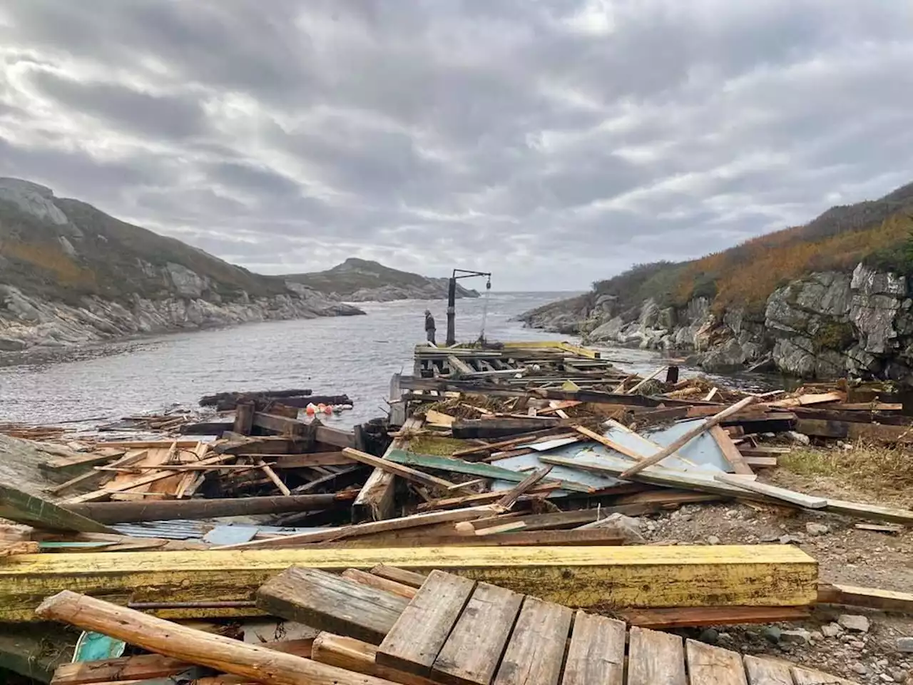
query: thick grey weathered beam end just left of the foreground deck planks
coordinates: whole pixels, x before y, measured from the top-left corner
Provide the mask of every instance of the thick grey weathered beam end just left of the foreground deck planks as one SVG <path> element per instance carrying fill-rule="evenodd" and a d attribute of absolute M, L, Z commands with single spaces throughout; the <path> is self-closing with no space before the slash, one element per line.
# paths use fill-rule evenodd
<path fill-rule="evenodd" d="M 379 645 L 408 600 L 340 575 L 292 566 L 257 590 L 257 606 L 288 618 Z"/>

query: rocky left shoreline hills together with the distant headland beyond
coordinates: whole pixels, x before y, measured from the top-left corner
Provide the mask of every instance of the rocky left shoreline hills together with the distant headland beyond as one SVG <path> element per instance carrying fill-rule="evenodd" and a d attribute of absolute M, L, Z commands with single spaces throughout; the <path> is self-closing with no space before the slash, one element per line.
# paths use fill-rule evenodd
<path fill-rule="evenodd" d="M 43 185 L 0 178 L 0 353 L 351 316 L 364 312 L 347 301 L 411 298 L 446 298 L 446 279 L 357 258 L 313 274 L 265 276 Z"/>

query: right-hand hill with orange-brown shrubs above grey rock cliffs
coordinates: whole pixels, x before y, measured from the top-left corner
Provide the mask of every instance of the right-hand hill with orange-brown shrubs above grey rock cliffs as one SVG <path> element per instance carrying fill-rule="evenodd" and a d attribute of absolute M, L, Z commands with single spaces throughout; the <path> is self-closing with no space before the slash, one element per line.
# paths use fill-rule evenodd
<path fill-rule="evenodd" d="M 635 266 L 522 315 L 591 342 L 694 353 L 712 371 L 913 382 L 913 184 L 687 262 Z"/>

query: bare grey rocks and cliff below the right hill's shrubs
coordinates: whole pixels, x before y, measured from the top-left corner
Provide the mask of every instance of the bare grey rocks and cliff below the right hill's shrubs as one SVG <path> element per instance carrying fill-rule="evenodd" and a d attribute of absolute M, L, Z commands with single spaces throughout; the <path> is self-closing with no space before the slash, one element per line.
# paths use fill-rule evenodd
<path fill-rule="evenodd" d="M 528 311 L 531 328 L 642 349 L 690 354 L 706 371 L 776 369 L 804 378 L 913 378 L 913 300 L 908 279 L 858 264 L 823 271 L 774 290 L 761 311 L 719 311 L 706 297 L 685 307 L 645 300 L 619 311 L 590 292 Z"/>

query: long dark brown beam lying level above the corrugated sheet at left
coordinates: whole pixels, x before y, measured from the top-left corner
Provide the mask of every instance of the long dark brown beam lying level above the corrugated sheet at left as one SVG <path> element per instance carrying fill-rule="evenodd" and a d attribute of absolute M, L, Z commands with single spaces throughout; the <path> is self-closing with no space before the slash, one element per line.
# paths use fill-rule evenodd
<path fill-rule="evenodd" d="M 196 520 L 218 516 L 249 516 L 287 511 L 320 511 L 345 505 L 339 495 L 290 495 L 219 500 L 101 501 L 65 504 L 67 511 L 100 523 Z"/>

